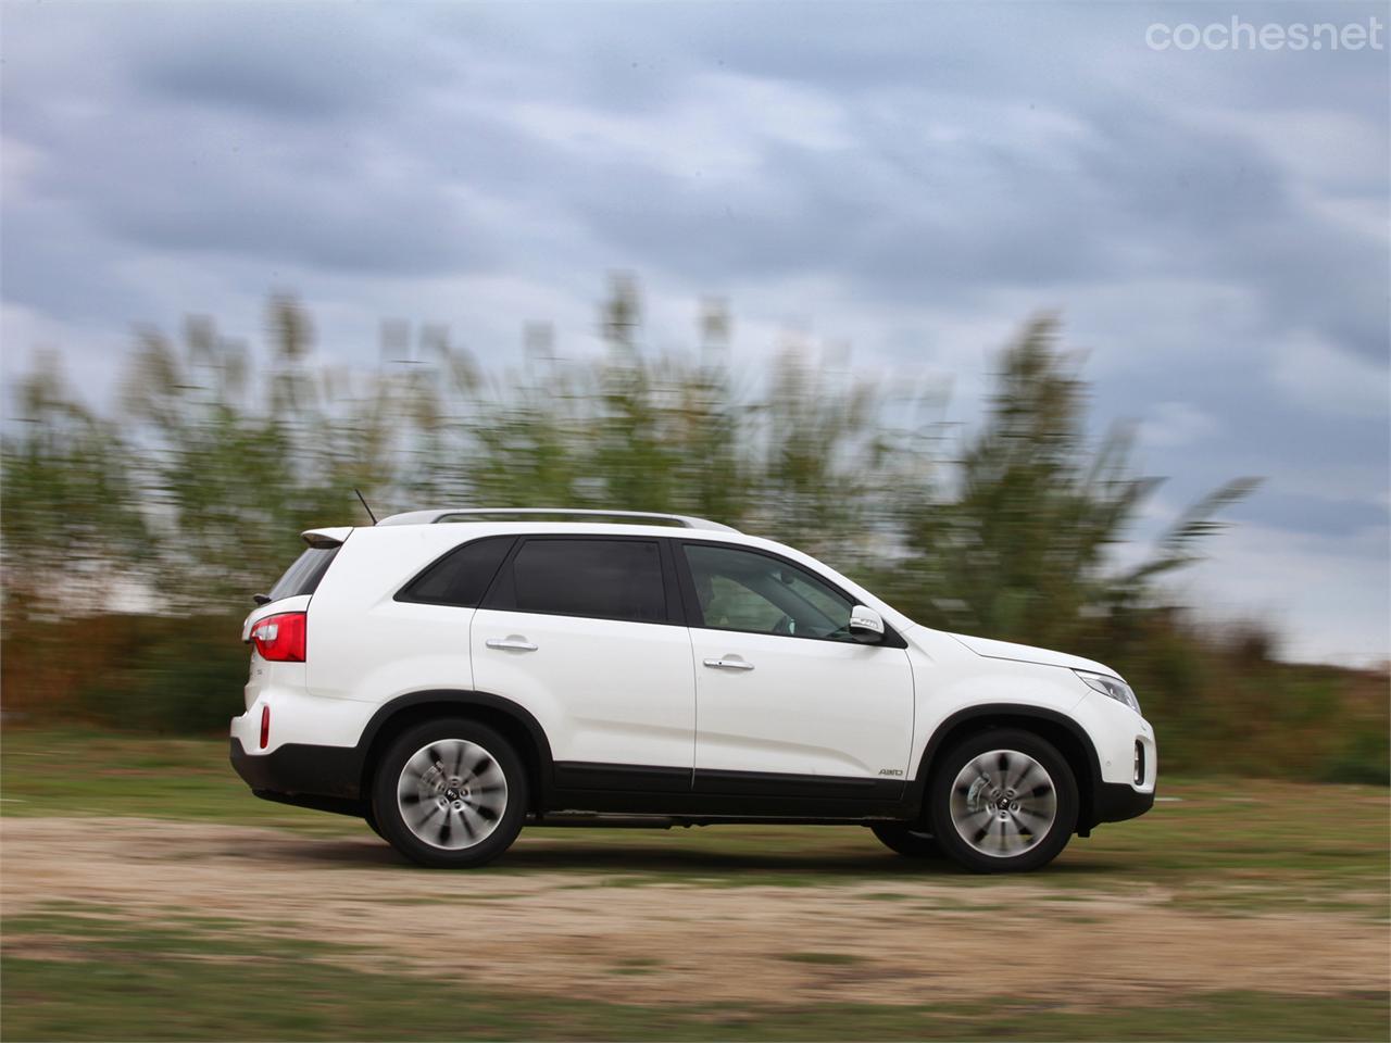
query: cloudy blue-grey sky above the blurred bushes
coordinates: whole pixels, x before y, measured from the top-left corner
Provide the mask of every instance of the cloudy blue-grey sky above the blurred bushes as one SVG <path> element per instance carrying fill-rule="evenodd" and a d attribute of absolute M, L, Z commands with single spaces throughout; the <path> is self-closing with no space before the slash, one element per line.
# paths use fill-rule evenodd
<path fill-rule="evenodd" d="M 1175 26 L 1360 24 L 1380 47 L 1157 50 Z M 595 346 L 608 273 L 647 341 L 729 300 L 929 374 L 979 416 L 1040 312 L 1097 428 L 1168 481 L 1237 476 L 1205 619 L 1284 655 L 1391 656 L 1387 4 L 0 4 L 0 377 L 60 348 L 104 401 L 136 323 L 255 341 L 273 291 L 371 366 L 384 318 L 484 363 Z M 1159 36 L 1152 26 L 1163 26 Z M 1181 35 L 1173 39 L 1184 39 Z M 1356 38 L 1352 38 L 1356 42 Z M 1141 547 L 1131 553 L 1139 553 Z"/>

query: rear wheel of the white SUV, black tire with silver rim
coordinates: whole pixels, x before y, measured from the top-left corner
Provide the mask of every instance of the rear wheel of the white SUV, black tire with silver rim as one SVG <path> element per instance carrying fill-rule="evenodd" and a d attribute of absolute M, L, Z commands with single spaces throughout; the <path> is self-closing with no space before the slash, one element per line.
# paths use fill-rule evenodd
<path fill-rule="evenodd" d="M 472 869 L 506 851 L 527 808 L 526 768 L 487 725 L 440 719 L 387 748 L 371 783 L 377 830 L 431 869 Z"/>

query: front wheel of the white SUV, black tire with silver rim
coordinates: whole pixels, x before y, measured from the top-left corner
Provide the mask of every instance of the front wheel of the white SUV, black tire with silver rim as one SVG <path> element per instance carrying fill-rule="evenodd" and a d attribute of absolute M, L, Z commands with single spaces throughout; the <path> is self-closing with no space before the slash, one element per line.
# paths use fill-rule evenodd
<path fill-rule="evenodd" d="M 1047 865 L 1072 839 L 1077 814 L 1067 761 L 1052 743 L 1018 729 L 963 740 L 942 757 L 928 786 L 938 844 L 976 873 Z"/>

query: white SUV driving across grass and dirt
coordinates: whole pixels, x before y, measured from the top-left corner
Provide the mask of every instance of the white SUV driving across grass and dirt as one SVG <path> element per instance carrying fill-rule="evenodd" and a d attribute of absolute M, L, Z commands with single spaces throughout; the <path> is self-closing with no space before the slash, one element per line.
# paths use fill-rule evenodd
<path fill-rule="evenodd" d="M 232 765 L 424 865 L 523 823 L 789 822 L 1018 871 L 1155 801 L 1113 670 L 929 630 L 726 526 L 441 509 L 303 538 L 246 619 Z"/>

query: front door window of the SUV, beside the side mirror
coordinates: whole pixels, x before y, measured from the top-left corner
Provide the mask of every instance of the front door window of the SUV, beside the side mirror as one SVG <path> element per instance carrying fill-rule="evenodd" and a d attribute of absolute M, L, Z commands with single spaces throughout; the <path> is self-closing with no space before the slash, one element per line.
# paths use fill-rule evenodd
<path fill-rule="evenodd" d="M 854 602 L 805 569 L 730 547 L 684 547 L 704 626 L 851 641 Z"/>

